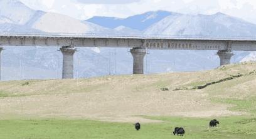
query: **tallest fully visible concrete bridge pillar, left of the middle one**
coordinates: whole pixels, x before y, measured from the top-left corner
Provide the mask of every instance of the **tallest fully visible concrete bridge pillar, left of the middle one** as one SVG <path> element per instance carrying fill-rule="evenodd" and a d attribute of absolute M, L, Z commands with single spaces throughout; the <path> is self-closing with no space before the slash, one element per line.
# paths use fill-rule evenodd
<path fill-rule="evenodd" d="M 63 55 L 62 79 L 71 79 L 74 74 L 73 55 L 77 50 L 73 47 L 63 46 L 60 51 Z"/>

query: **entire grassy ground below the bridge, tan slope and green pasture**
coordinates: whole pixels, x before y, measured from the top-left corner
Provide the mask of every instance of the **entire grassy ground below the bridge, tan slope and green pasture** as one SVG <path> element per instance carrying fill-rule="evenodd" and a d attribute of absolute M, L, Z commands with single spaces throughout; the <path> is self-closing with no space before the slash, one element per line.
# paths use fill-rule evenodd
<path fill-rule="evenodd" d="M 255 69 L 256 63 L 242 63 L 193 73 L 0 82 L 0 139 L 254 139 Z M 217 128 L 208 127 L 213 118 L 220 121 Z M 175 126 L 185 135 L 174 136 Z"/>

